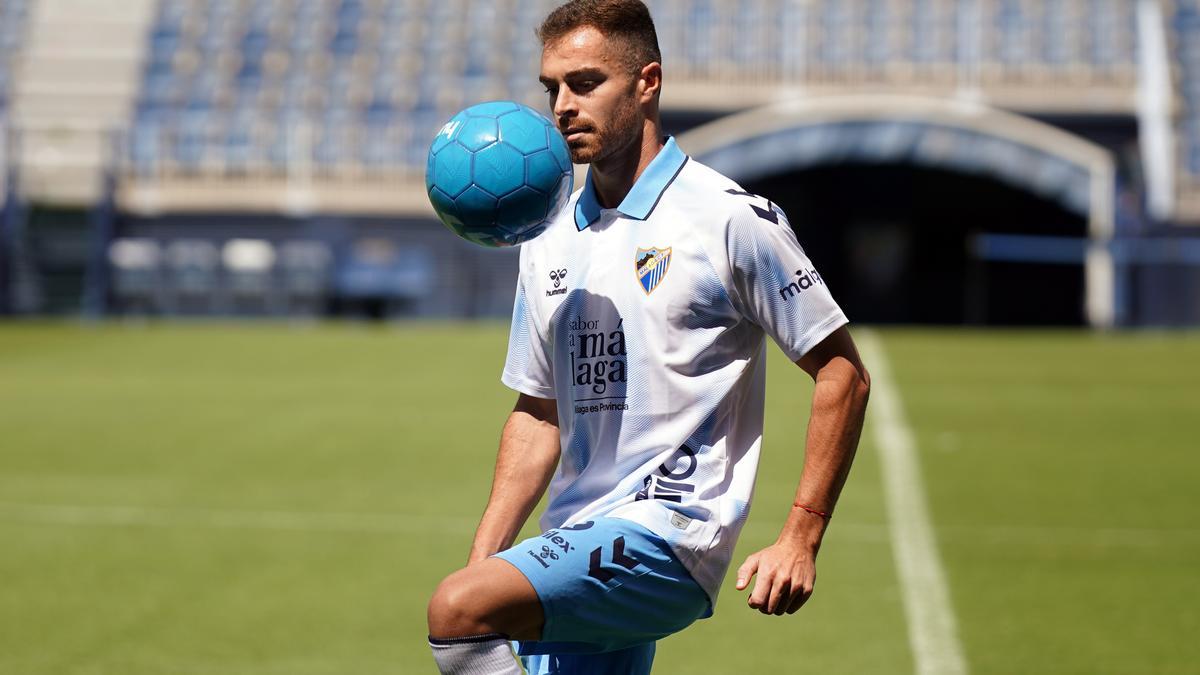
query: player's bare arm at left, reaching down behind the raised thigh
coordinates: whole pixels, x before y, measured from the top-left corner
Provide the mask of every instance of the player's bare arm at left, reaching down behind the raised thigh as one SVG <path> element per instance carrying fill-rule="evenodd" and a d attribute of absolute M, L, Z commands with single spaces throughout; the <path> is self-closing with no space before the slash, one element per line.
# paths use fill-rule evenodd
<path fill-rule="evenodd" d="M 557 404 L 521 394 L 500 434 L 492 495 L 475 530 L 467 565 L 512 545 L 546 491 L 559 453 Z"/>

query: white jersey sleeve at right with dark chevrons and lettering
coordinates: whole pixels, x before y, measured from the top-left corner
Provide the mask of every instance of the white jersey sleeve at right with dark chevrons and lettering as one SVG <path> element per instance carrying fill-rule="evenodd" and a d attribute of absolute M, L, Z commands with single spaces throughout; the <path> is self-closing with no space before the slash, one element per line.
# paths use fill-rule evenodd
<path fill-rule="evenodd" d="M 726 233 L 734 304 L 793 362 L 847 323 L 787 216 L 762 197 L 734 207 Z"/>

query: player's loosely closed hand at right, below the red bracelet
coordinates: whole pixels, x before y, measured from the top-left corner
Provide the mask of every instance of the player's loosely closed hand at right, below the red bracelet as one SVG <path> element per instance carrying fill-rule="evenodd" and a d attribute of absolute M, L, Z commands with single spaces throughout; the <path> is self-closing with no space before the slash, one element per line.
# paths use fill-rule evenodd
<path fill-rule="evenodd" d="M 744 591 L 755 574 L 750 607 L 781 616 L 804 607 L 817 579 L 816 548 L 803 542 L 775 542 L 751 554 L 738 568 L 737 589 Z"/>

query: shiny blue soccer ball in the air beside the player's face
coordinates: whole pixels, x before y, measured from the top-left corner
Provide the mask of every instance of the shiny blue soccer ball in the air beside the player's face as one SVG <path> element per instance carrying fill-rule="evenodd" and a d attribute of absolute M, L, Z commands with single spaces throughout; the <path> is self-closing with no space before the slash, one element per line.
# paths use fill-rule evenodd
<path fill-rule="evenodd" d="M 571 196 L 566 141 L 528 106 L 493 101 L 450 118 L 430 147 L 425 189 L 463 239 L 515 246 L 541 234 Z"/>

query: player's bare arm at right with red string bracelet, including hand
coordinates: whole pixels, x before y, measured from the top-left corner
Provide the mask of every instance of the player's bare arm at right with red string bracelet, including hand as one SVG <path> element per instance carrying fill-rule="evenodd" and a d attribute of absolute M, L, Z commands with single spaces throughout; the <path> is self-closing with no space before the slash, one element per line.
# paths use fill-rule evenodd
<path fill-rule="evenodd" d="M 816 382 L 800 485 L 779 539 L 738 568 L 739 591 L 757 575 L 749 602 L 763 614 L 792 614 L 812 595 L 817 550 L 850 474 L 871 389 L 845 327 L 796 363 Z"/>

